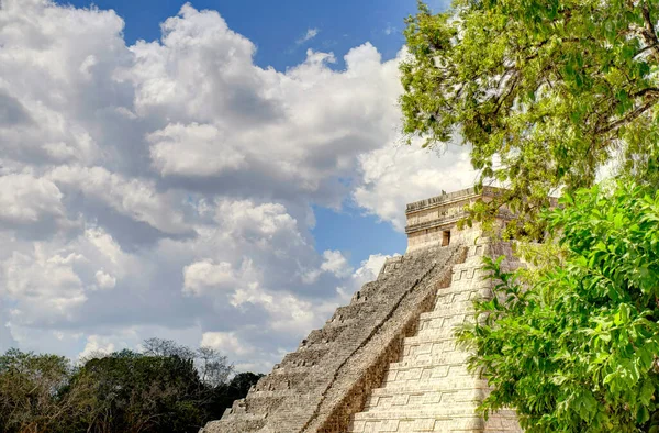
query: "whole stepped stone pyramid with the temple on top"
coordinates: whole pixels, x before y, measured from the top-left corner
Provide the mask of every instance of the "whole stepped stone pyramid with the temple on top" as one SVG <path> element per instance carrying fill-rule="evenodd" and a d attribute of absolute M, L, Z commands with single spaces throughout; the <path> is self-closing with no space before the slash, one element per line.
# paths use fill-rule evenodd
<path fill-rule="evenodd" d="M 469 354 L 454 337 L 473 299 L 492 296 L 482 257 L 521 266 L 509 243 L 456 226 L 466 204 L 498 193 L 466 189 L 407 204 L 405 255 L 200 433 L 522 432 L 512 411 L 477 415 L 487 384 L 467 371 Z M 496 225 L 510 218 L 500 212 Z"/>

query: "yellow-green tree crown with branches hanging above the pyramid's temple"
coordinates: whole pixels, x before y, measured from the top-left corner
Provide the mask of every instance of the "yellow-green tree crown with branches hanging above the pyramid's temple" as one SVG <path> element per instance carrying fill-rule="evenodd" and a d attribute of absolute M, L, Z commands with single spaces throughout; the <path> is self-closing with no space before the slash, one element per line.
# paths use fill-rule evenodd
<path fill-rule="evenodd" d="M 552 191 L 593 185 L 616 155 L 657 185 L 658 19 L 656 0 L 454 0 L 439 14 L 420 2 L 401 64 L 404 132 L 469 146 L 480 184 L 509 188 L 474 216 L 506 203 L 534 235 Z"/>

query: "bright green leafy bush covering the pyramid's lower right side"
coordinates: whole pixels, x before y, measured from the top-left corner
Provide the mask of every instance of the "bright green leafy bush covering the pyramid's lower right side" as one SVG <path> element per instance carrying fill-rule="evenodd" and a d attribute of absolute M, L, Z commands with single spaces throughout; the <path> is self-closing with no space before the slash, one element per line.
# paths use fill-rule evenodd
<path fill-rule="evenodd" d="M 659 193 L 594 187 L 547 218 L 562 263 L 525 289 L 490 260 L 495 296 L 458 332 L 493 387 L 481 409 L 513 407 L 528 432 L 659 431 Z"/>

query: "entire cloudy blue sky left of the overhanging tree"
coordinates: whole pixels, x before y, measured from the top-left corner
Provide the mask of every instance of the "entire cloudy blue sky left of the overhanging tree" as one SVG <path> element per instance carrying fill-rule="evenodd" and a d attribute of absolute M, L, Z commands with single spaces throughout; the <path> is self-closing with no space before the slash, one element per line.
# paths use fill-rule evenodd
<path fill-rule="evenodd" d="M 415 1 L 93 4 L 0 2 L 0 351 L 267 371 L 404 253 L 406 202 L 473 182 L 402 144 Z"/>

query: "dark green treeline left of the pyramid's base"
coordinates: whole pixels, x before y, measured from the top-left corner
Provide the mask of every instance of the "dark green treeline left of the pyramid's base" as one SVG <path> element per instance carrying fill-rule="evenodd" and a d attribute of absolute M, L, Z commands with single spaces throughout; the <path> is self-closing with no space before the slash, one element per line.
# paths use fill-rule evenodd
<path fill-rule="evenodd" d="M 141 352 L 78 364 L 10 349 L 0 356 L 0 432 L 197 433 L 261 375 L 234 375 L 226 357 L 150 338 Z"/>

